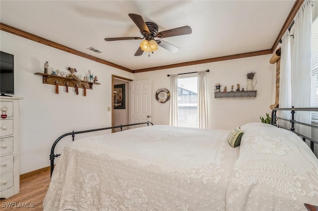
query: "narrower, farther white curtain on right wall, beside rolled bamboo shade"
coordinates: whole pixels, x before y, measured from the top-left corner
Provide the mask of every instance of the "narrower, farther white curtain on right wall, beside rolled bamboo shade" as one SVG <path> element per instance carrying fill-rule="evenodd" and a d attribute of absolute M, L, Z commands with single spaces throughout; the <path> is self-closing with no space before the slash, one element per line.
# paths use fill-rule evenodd
<path fill-rule="evenodd" d="M 289 30 L 282 37 L 279 77 L 279 107 L 291 107 L 291 44 Z M 290 119 L 290 111 L 278 111 L 278 116 Z M 280 121 L 280 125 L 290 128 L 290 123 Z"/>

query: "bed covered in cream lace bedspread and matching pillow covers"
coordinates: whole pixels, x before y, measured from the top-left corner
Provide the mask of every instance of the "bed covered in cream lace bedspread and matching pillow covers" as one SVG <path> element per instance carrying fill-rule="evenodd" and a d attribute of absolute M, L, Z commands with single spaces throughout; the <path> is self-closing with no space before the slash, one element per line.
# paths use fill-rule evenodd
<path fill-rule="evenodd" d="M 318 205 L 318 159 L 295 133 L 247 123 L 232 130 L 154 125 L 65 147 L 46 211 L 306 210 Z"/>

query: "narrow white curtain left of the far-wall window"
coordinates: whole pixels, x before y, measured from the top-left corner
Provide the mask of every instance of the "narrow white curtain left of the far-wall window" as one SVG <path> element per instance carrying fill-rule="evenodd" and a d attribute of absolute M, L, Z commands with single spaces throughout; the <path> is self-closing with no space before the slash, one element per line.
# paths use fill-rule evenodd
<path fill-rule="evenodd" d="M 170 75 L 170 125 L 178 126 L 178 75 Z"/>

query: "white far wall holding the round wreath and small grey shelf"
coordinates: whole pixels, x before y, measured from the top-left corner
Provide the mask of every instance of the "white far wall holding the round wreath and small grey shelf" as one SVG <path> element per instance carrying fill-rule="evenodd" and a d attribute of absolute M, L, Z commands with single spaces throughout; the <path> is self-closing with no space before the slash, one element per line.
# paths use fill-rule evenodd
<path fill-rule="evenodd" d="M 247 122 L 259 122 L 259 116 L 270 112 L 269 106 L 275 102 L 276 66 L 270 64 L 271 54 L 247 58 L 198 64 L 192 66 L 135 73 L 134 80 L 152 79 L 152 122 L 154 124 L 169 124 L 169 101 L 161 104 L 155 98 L 160 88 L 170 90 L 170 78 L 167 74 L 186 73 L 210 69 L 207 73 L 209 128 L 232 129 Z M 228 86 L 239 83 L 246 89 L 246 74 L 256 72 L 254 78 L 257 84 L 256 98 L 214 98 L 214 85 L 220 83 Z M 184 76 L 184 75 L 183 75 Z"/>

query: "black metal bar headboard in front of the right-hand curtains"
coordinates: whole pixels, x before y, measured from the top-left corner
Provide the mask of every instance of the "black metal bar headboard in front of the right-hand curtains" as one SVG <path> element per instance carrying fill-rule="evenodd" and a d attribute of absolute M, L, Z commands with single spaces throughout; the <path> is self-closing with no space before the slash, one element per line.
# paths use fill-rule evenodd
<path fill-rule="evenodd" d="M 290 111 L 291 118 L 290 119 L 285 119 L 285 118 L 277 116 L 277 111 L 278 110 Z M 318 123 L 317 123 L 317 125 L 315 125 L 312 122 L 310 124 L 308 124 L 308 123 L 296 121 L 295 119 L 296 119 L 297 111 L 313 112 L 313 111 L 318 111 L 318 107 L 303 107 L 303 108 L 295 108 L 294 106 L 292 106 L 291 108 L 276 108 L 275 107 L 275 108 L 272 109 L 271 124 L 275 125 L 276 127 L 284 128 L 286 130 L 291 130 L 292 132 L 294 132 L 297 135 L 299 135 L 300 137 L 302 137 L 304 142 L 306 142 L 306 140 L 310 141 L 310 148 L 314 152 L 314 148 L 315 148 L 314 146 L 315 146 L 315 144 L 318 146 L 318 141 L 315 140 L 314 138 L 312 138 L 312 136 L 313 137 L 315 137 L 315 136 L 318 137 Z M 278 120 L 280 120 L 280 121 L 278 121 Z M 283 121 L 290 122 L 290 124 L 289 124 L 290 127 L 287 128 L 287 127 L 282 126 L 282 122 Z M 304 126 L 310 127 L 310 128 L 314 128 L 314 130 L 311 131 L 310 137 L 308 137 L 308 136 L 306 136 L 304 134 L 301 134 L 300 132 L 295 131 L 296 124 L 304 125 Z M 317 134 L 317 135 L 315 135 L 315 134 Z"/>

